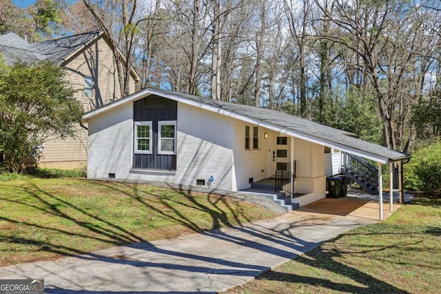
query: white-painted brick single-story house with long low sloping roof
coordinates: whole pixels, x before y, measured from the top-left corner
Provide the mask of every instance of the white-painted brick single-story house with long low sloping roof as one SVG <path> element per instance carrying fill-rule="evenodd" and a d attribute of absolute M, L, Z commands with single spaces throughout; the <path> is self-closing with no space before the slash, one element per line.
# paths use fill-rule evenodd
<path fill-rule="evenodd" d="M 327 151 L 378 165 L 409 158 L 283 112 L 164 90 L 141 90 L 83 120 L 90 179 L 240 191 L 283 171 L 280 189 L 300 206 L 325 198 L 327 176 L 338 173 L 326 170 Z M 360 167 L 351 163 L 345 170 Z"/>

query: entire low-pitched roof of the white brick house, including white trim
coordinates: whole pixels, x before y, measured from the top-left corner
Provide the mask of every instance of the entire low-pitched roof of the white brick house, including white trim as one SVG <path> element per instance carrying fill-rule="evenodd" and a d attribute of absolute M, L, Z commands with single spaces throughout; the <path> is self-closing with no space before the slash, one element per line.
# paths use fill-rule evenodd
<path fill-rule="evenodd" d="M 302 138 L 303 140 L 327 147 L 334 147 L 349 154 L 369 158 L 383 164 L 404 160 L 410 157 L 402 152 L 354 138 L 352 136 L 353 134 L 349 132 L 315 123 L 305 118 L 299 118 L 298 116 L 292 116 L 291 114 L 285 114 L 283 112 L 277 112 L 275 110 L 261 107 L 228 103 L 210 98 L 166 90 L 154 90 L 150 88 L 94 109 L 85 114 L 83 120 L 88 120 L 89 118 L 107 112 L 107 110 L 113 109 L 114 107 L 119 107 L 119 105 L 130 103 L 131 101 L 136 101 L 151 95 L 169 98 L 174 101 L 207 109 L 218 114 L 231 116 L 248 123 L 254 123 L 261 127 L 266 127 L 276 132 L 287 134 L 288 136 Z"/>

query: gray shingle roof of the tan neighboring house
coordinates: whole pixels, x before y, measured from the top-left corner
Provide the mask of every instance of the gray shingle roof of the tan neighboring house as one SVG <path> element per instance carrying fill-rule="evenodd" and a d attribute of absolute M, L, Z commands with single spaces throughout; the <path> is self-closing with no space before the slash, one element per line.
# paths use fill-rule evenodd
<path fill-rule="evenodd" d="M 0 52 L 10 65 L 17 61 L 50 61 L 60 64 L 99 34 L 100 32 L 88 32 L 41 43 L 28 43 L 17 34 L 8 33 L 0 35 Z"/>

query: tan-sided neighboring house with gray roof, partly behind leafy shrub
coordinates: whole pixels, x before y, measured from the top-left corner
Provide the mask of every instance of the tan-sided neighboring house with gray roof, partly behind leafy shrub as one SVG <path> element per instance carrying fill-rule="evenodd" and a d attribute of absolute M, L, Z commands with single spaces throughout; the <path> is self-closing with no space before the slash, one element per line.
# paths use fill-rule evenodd
<path fill-rule="evenodd" d="M 112 50 L 102 32 L 76 34 L 42 43 L 28 43 L 14 33 L 0 35 L 0 54 L 6 63 L 50 61 L 63 67 L 66 79 L 75 90 L 85 112 L 121 98 L 118 73 Z M 131 72 L 130 93 L 139 76 Z M 65 140 L 52 137 L 44 142 L 41 167 L 76 168 L 87 160 L 86 129 L 78 125 L 76 134 Z"/>

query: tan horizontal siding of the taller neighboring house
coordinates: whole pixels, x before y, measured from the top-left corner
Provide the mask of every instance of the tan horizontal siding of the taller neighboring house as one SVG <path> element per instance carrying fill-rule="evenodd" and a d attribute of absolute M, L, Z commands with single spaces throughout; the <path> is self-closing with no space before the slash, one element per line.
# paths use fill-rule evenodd
<path fill-rule="evenodd" d="M 74 97 L 81 102 L 85 112 L 121 98 L 112 50 L 103 36 L 99 36 L 61 66 L 65 68 L 65 78 L 75 91 Z M 84 94 L 85 76 L 91 76 L 94 80 L 92 99 Z M 135 80 L 132 78 L 130 93 L 134 91 Z M 39 165 L 61 169 L 74 169 L 85 165 L 88 158 L 87 140 L 87 130 L 80 126 L 76 127 L 72 137 L 50 137 L 44 143 Z"/>

